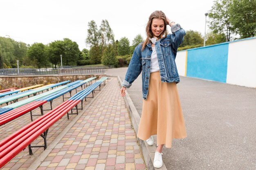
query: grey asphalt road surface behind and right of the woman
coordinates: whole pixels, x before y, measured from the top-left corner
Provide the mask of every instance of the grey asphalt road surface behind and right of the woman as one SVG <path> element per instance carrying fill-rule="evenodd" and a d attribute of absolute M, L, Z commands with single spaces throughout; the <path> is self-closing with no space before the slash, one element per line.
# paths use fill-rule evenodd
<path fill-rule="evenodd" d="M 106 69 L 123 80 L 127 68 Z M 168 170 L 256 170 L 256 88 L 180 77 L 187 138 L 163 149 Z M 139 115 L 141 75 L 127 89 Z M 156 139 L 156 137 L 154 137 Z"/>

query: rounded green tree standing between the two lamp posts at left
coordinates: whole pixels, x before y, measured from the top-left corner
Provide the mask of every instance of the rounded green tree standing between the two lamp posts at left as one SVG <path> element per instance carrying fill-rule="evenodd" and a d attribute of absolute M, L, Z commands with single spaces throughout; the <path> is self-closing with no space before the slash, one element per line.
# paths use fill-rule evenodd
<path fill-rule="evenodd" d="M 33 65 L 37 68 L 45 67 L 49 65 L 45 45 L 42 43 L 34 43 L 27 51 L 27 56 L 33 61 Z"/>

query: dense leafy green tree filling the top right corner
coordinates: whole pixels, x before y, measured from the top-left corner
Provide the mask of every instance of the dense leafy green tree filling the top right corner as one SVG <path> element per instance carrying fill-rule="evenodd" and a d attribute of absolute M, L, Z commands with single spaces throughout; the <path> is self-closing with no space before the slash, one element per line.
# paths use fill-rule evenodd
<path fill-rule="evenodd" d="M 256 36 L 256 0 L 232 0 L 229 15 L 240 38 Z"/>

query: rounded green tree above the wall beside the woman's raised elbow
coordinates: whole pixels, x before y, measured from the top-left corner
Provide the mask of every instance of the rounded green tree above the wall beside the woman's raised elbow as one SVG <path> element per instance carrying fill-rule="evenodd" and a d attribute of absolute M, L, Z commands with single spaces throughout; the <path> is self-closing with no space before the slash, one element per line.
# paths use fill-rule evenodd
<path fill-rule="evenodd" d="M 189 31 L 186 31 L 186 35 L 180 47 L 200 45 L 203 43 L 204 43 L 204 39 L 202 38 L 202 35 L 200 32 L 189 30 Z"/>

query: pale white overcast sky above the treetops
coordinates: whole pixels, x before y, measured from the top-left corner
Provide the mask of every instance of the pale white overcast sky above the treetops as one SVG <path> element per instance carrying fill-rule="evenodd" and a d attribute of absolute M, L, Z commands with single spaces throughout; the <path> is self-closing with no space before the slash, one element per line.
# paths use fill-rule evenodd
<path fill-rule="evenodd" d="M 0 36 L 26 44 L 70 38 L 80 50 L 89 49 L 88 22 L 94 20 L 99 28 L 106 19 L 115 40 L 127 37 L 131 44 L 137 34 L 146 38 L 146 23 L 155 10 L 186 31 L 204 35 L 204 13 L 212 5 L 213 0 L 0 0 Z"/>

